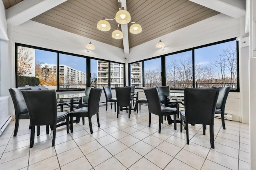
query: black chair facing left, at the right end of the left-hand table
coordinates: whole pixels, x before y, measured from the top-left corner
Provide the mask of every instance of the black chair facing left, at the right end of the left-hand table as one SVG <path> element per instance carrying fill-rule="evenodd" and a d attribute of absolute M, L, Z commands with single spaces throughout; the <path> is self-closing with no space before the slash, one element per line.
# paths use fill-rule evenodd
<path fill-rule="evenodd" d="M 100 95 L 103 88 L 91 88 L 89 98 L 88 98 L 88 105 L 86 107 L 81 107 L 74 111 L 70 112 L 70 131 L 73 133 L 73 117 L 80 118 L 80 117 L 88 117 L 89 119 L 89 127 L 91 134 L 92 131 L 92 116 L 96 114 L 98 127 L 100 127 L 100 120 L 99 120 L 99 103 L 100 103 Z"/>

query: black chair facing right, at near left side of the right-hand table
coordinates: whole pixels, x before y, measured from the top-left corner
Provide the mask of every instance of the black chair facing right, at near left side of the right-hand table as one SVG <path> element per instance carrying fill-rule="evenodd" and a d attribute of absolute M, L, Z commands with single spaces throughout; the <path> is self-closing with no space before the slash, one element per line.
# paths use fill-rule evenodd
<path fill-rule="evenodd" d="M 148 127 L 151 125 L 151 113 L 159 116 L 159 127 L 158 127 L 158 133 L 161 133 L 161 123 L 163 121 L 164 116 L 170 116 L 173 115 L 174 117 L 174 129 L 177 129 L 177 122 L 176 122 L 176 115 L 177 111 L 176 109 L 173 109 L 171 107 L 163 106 L 160 103 L 159 93 L 157 88 L 143 88 L 146 98 L 148 101 L 148 112 L 149 112 L 149 123 Z"/>

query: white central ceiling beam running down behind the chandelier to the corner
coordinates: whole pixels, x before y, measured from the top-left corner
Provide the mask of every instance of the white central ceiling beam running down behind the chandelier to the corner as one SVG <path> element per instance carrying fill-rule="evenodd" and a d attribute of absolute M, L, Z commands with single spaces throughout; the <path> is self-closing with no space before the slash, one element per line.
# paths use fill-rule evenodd
<path fill-rule="evenodd" d="M 120 0 L 122 3 L 122 7 L 124 7 L 124 10 L 127 10 L 126 6 L 126 0 Z M 122 33 L 124 35 L 123 37 L 123 45 L 124 45 L 124 54 L 129 54 L 129 37 L 128 37 L 128 24 L 121 24 Z"/>

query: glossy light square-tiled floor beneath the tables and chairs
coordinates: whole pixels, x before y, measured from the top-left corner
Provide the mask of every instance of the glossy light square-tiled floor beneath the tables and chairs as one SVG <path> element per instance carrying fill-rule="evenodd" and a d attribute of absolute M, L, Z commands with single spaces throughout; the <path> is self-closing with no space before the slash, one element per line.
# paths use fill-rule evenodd
<path fill-rule="evenodd" d="M 0 136 L 1 170 L 248 170 L 249 126 L 215 118 L 215 149 L 210 148 L 209 127 L 202 135 L 202 126 L 189 125 L 190 143 L 180 125 L 162 124 L 158 133 L 158 116 L 152 115 L 148 127 L 148 106 L 132 111 L 130 119 L 121 111 L 117 119 L 114 109 L 99 109 L 100 127 L 93 116 L 93 134 L 86 124 L 74 124 L 74 132 L 66 133 L 65 126 L 56 133 L 55 147 L 52 134 L 41 127 L 29 148 L 29 120 L 20 120 L 17 137 L 13 137 L 12 121 Z"/>

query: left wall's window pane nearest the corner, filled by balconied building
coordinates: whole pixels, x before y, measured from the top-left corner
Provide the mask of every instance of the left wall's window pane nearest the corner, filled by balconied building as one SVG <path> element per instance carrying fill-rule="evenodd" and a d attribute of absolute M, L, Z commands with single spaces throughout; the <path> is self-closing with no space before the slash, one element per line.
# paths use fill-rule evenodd
<path fill-rule="evenodd" d="M 124 86 L 124 64 L 110 63 L 110 87 Z"/>

